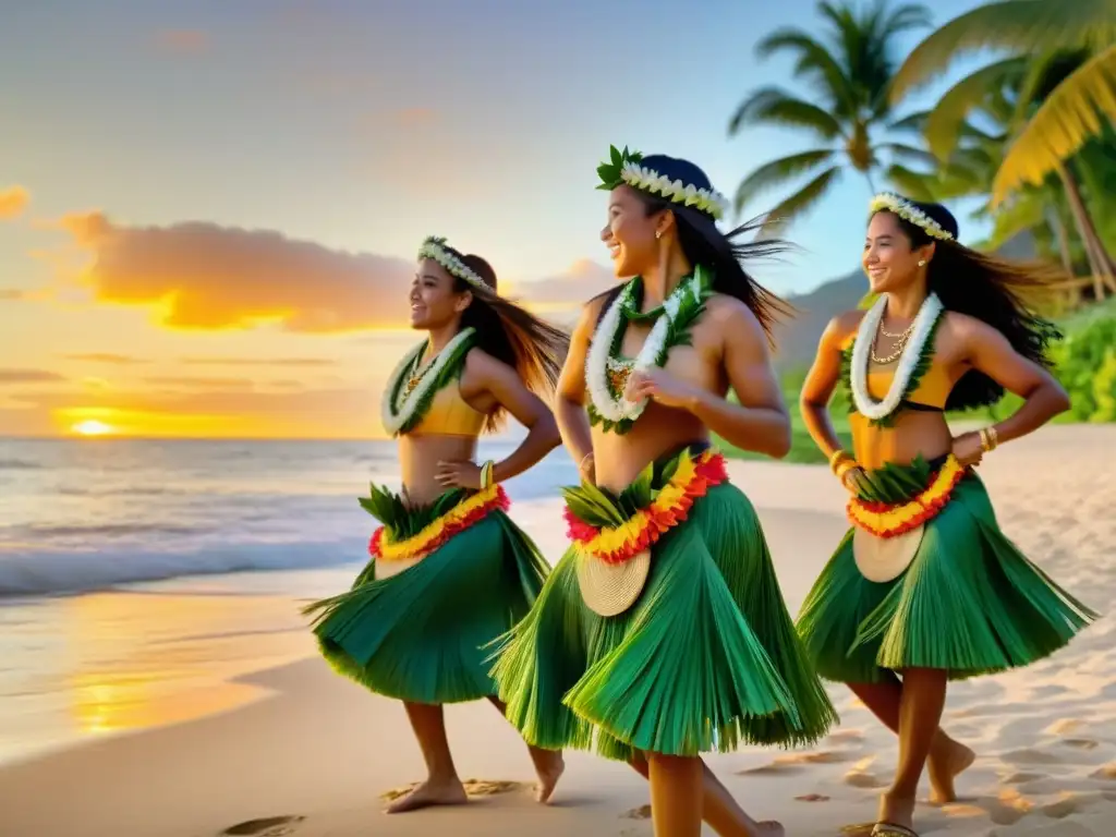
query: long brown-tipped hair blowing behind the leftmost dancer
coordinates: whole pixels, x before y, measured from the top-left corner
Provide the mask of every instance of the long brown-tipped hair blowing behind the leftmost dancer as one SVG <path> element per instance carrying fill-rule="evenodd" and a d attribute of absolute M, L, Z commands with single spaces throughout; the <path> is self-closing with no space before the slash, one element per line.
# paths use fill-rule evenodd
<path fill-rule="evenodd" d="M 461 259 L 490 289 L 481 290 L 453 277 L 453 290 L 458 294 L 469 291 L 473 297 L 461 315 L 461 328 L 475 329 L 475 346 L 514 368 L 527 387 L 549 403 L 569 352 L 569 336 L 501 297 L 497 292 L 496 271 L 480 256 L 462 253 L 449 244 L 442 244 L 442 249 Z M 502 406 L 490 413 L 485 430 L 498 430 L 506 413 Z"/>

